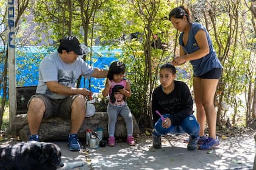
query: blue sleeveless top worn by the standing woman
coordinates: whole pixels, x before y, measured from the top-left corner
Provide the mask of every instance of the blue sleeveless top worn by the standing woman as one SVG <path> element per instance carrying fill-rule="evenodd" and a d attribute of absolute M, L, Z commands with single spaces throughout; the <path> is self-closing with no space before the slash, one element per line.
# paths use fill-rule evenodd
<path fill-rule="evenodd" d="M 184 43 L 182 41 L 184 32 L 182 32 L 180 34 L 180 37 L 179 37 L 180 46 L 182 46 L 182 48 L 184 49 L 186 54 L 191 54 L 194 51 L 197 51 L 197 49 L 199 49 L 199 47 L 197 46 L 196 39 L 194 37 L 195 37 L 197 31 L 200 29 L 204 30 L 204 32 L 206 34 L 210 52 L 209 52 L 209 54 L 205 55 L 202 58 L 190 61 L 191 65 L 193 66 L 193 71 L 194 71 L 195 77 L 199 77 L 202 74 L 207 73 L 208 71 L 210 71 L 213 68 L 222 68 L 221 62 L 219 62 L 219 59 L 217 58 L 217 55 L 215 52 L 215 49 L 213 48 L 213 43 L 210 38 L 210 35 L 208 34 L 205 27 L 202 26 L 201 24 L 199 24 L 199 23 L 191 24 L 188 42 L 186 45 L 184 45 Z"/>

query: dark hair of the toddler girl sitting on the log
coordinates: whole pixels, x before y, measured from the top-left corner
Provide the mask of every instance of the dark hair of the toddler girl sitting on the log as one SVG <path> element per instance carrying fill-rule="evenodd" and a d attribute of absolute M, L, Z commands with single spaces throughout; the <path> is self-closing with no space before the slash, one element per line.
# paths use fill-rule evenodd
<path fill-rule="evenodd" d="M 112 62 L 109 69 L 107 78 L 113 80 L 114 74 L 124 74 L 126 72 L 126 65 L 122 62 Z"/>

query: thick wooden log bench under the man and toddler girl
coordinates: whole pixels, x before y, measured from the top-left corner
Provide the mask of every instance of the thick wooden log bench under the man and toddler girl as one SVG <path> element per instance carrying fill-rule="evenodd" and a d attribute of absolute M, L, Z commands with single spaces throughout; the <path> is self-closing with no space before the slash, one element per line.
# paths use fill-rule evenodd
<path fill-rule="evenodd" d="M 97 127 L 103 128 L 103 138 L 107 140 L 108 138 L 108 115 L 106 112 L 96 112 L 93 116 L 85 118 L 82 127 L 80 127 L 78 137 L 79 140 L 85 140 L 85 130 L 93 129 L 96 130 Z M 126 123 L 121 116 L 118 116 L 115 127 L 115 137 L 118 139 L 126 138 Z M 29 126 L 27 124 L 27 115 L 17 115 L 15 118 L 15 131 L 20 133 L 20 138 L 23 141 L 28 140 L 30 135 Z M 63 118 L 50 118 L 43 119 L 41 122 L 40 130 L 38 135 L 40 136 L 40 141 L 65 141 L 68 138 L 68 133 L 70 131 L 70 120 Z M 140 135 L 140 128 L 136 119 L 133 116 L 133 136 L 138 137 Z"/>

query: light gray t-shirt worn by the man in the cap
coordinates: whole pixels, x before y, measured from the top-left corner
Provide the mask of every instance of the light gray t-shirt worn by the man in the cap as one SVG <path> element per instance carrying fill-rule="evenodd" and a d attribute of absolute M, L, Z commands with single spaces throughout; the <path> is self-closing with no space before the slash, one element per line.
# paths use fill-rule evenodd
<path fill-rule="evenodd" d="M 37 93 L 45 94 L 51 99 L 64 99 L 66 95 L 53 93 L 46 82 L 57 81 L 67 87 L 75 87 L 80 75 L 89 77 L 94 72 L 93 66 L 88 65 L 82 58 L 73 63 L 65 63 L 58 52 L 46 55 L 39 66 Z"/>

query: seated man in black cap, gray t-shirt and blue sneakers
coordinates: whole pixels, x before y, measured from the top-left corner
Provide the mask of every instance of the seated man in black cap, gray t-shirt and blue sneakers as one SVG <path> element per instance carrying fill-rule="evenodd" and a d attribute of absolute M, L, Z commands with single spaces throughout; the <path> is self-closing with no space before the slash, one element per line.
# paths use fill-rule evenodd
<path fill-rule="evenodd" d="M 46 55 L 39 66 L 37 91 L 27 104 L 29 141 L 39 141 L 39 127 L 42 119 L 62 117 L 71 119 L 68 137 L 70 151 L 79 151 L 77 133 L 84 122 L 87 99 L 91 91 L 76 88 L 76 80 L 84 77 L 107 77 L 107 70 L 88 65 L 79 55 L 87 54 L 74 36 L 60 40 L 57 52 Z"/>

